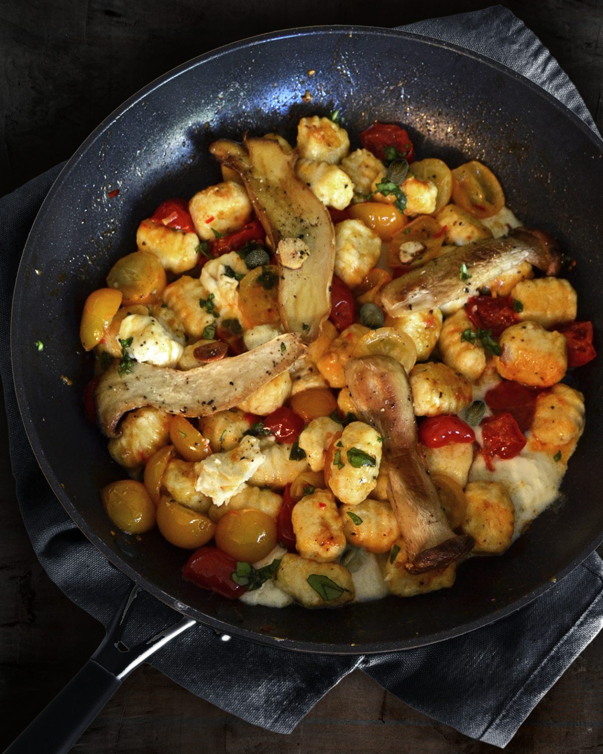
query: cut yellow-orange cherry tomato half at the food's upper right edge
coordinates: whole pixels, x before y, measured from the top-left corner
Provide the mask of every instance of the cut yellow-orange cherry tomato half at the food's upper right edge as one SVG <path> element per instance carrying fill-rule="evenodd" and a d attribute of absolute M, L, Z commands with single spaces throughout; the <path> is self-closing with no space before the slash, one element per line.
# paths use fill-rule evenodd
<path fill-rule="evenodd" d="M 452 201 L 472 217 L 484 219 L 504 207 L 504 193 L 489 167 L 472 160 L 452 170 Z"/>

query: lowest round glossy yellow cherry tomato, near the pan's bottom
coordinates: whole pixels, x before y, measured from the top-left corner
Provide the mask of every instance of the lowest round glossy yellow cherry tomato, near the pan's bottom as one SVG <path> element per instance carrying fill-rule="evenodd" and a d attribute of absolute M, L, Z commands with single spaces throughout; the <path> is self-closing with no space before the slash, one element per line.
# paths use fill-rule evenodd
<path fill-rule="evenodd" d="M 277 525 L 255 508 L 229 510 L 216 526 L 216 545 L 235 560 L 256 562 L 277 545 Z"/>

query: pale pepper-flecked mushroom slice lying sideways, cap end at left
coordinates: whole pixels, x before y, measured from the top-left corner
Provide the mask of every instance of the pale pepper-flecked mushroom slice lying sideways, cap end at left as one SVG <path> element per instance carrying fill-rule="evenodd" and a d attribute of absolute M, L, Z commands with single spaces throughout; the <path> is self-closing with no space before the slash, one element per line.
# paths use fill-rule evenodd
<path fill-rule="evenodd" d="M 118 421 L 125 412 L 141 406 L 182 416 L 207 416 L 230 409 L 289 369 L 305 354 L 298 336 L 288 333 L 240 356 L 222 359 L 181 372 L 133 362 L 120 375 L 109 366 L 96 386 L 96 415 L 107 437 L 118 437 Z"/>

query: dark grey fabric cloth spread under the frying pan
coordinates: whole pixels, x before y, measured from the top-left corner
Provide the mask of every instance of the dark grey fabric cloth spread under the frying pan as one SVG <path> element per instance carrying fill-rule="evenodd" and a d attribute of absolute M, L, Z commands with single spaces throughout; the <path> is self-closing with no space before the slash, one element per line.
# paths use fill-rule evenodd
<path fill-rule="evenodd" d="M 549 52 L 504 8 L 415 23 L 408 30 L 456 42 L 506 63 L 594 123 Z M 62 166 L 0 200 L 0 372 L 17 497 L 35 552 L 69 599 L 109 624 L 130 581 L 84 538 L 44 480 L 27 443 L 9 358 L 14 280 L 35 214 Z M 93 584 L 93 588 L 90 588 Z M 173 611 L 145 595 L 123 640 L 173 623 Z M 337 657 L 268 648 L 197 624 L 151 664 L 222 710 L 288 733 L 347 673 L 360 668 L 388 691 L 479 740 L 505 746 L 538 700 L 601 629 L 603 562 L 593 554 L 556 587 L 513 615 L 473 633 L 406 652 Z M 207 673 L 207 657 L 212 657 Z M 437 679 L 437 682 L 433 682 Z"/>

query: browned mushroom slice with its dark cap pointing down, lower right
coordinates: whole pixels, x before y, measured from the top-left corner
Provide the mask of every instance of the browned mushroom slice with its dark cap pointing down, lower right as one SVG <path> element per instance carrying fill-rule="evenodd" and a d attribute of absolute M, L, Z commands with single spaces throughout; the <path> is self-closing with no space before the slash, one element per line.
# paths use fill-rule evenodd
<path fill-rule="evenodd" d="M 383 437 L 387 496 L 402 532 L 412 574 L 444 568 L 469 552 L 473 538 L 452 532 L 417 443 L 406 372 L 387 356 L 352 359 L 345 379 L 357 416 Z"/>

